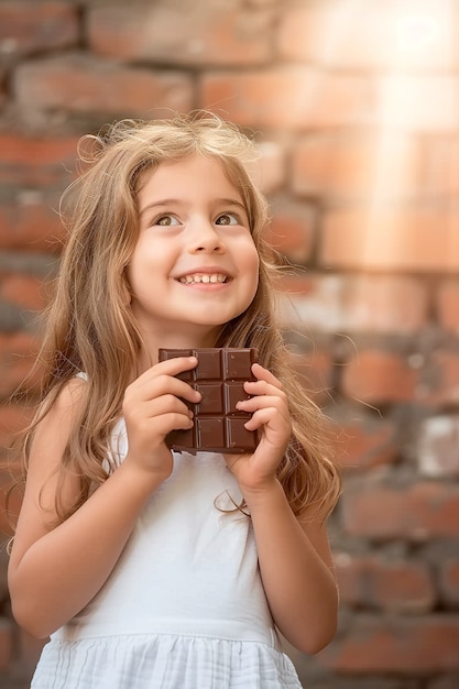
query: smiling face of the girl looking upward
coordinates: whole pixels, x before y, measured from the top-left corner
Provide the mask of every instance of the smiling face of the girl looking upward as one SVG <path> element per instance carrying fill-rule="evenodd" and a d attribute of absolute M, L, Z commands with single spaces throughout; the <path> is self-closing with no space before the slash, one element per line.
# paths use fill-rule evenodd
<path fill-rule="evenodd" d="M 128 278 L 151 353 L 212 346 L 258 287 L 259 255 L 239 192 L 217 160 L 193 155 L 145 173 L 138 201 Z"/>

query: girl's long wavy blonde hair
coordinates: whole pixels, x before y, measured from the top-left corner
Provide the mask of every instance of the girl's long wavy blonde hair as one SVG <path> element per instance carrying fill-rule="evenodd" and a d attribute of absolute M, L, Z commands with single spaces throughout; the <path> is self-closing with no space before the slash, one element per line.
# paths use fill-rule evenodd
<path fill-rule="evenodd" d="M 37 359 L 44 370 L 42 403 L 24 440 L 26 466 L 37 424 L 68 381 L 84 371 L 87 392 L 59 468 L 58 518 L 75 512 L 114 468 L 107 471 L 110 435 L 142 347 L 125 276 L 139 233 L 136 196 L 142 173 L 195 153 L 221 162 L 247 207 L 260 256 L 253 302 L 222 327 L 215 344 L 255 347 L 260 363 L 283 383 L 293 437 L 278 479 L 296 515 L 326 518 L 338 500 L 339 474 L 325 440 L 323 414 L 288 367 L 287 346 L 276 321 L 274 281 L 282 262 L 263 238 L 267 206 L 248 173 L 256 156 L 253 142 L 219 117 L 197 112 L 151 122 L 124 120 L 85 136 L 81 145 L 87 143 L 90 154 L 80 146 L 84 169 L 63 197 L 63 208 L 69 201 L 63 215 L 68 239 Z M 81 491 L 75 504 L 64 507 L 63 483 L 69 469 L 81 477 Z"/>

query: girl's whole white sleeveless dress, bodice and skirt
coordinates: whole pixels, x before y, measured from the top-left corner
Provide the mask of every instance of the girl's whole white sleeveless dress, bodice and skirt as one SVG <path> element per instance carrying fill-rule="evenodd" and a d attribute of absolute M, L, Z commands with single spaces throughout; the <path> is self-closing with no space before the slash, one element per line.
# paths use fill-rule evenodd
<path fill-rule="evenodd" d="M 123 422 L 114 439 L 121 461 Z M 300 689 L 280 649 L 251 520 L 221 511 L 231 499 L 241 494 L 222 456 L 175 453 L 103 589 L 52 635 L 31 687 Z"/>

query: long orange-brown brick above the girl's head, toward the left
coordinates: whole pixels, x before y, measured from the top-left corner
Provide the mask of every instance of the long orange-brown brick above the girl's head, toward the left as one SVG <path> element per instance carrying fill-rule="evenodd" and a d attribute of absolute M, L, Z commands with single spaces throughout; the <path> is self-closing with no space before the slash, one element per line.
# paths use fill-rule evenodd
<path fill-rule="evenodd" d="M 83 54 L 20 65 L 15 90 L 22 106 L 72 112 L 153 118 L 193 107 L 192 78 L 183 73 L 127 67 Z"/>

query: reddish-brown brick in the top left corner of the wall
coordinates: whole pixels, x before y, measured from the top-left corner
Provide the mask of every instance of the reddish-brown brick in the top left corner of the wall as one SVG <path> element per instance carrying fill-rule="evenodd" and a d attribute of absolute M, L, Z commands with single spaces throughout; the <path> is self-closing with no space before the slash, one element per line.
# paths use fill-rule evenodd
<path fill-rule="evenodd" d="M 0 42 L 9 54 L 75 45 L 78 36 L 78 10 L 70 3 L 7 0 L 0 4 Z"/>

